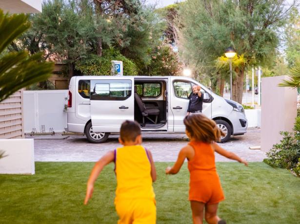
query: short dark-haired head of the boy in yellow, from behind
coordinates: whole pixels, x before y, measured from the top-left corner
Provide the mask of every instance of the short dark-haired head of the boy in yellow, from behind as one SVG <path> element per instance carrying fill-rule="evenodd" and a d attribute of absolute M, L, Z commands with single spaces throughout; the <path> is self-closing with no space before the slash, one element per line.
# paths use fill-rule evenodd
<path fill-rule="evenodd" d="M 124 121 L 120 129 L 120 138 L 123 142 L 135 141 L 140 135 L 140 125 L 135 121 Z"/>

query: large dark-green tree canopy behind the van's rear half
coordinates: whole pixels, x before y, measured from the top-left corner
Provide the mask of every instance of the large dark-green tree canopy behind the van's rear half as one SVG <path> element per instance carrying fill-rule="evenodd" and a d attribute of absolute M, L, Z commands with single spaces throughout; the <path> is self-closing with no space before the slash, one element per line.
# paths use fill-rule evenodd
<path fill-rule="evenodd" d="M 45 0 L 42 13 L 29 18 L 32 28 L 9 50 L 42 51 L 44 59 L 67 63 L 69 77 L 76 62 L 95 59 L 109 48 L 119 50 L 140 71 L 151 63 L 165 29 L 165 21 L 140 0 Z M 126 63 L 136 74 L 133 64 Z M 107 68 L 101 73 L 107 74 Z"/>

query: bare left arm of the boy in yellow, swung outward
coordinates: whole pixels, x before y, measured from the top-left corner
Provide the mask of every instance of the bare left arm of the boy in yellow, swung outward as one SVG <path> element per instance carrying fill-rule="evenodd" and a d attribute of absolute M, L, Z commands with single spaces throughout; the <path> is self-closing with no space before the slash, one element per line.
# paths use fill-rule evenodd
<path fill-rule="evenodd" d="M 94 191 L 94 183 L 99 176 L 100 172 L 102 171 L 103 167 L 107 164 L 113 162 L 115 159 L 114 151 L 109 151 L 105 155 L 103 155 L 100 160 L 95 164 L 94 168 L 92 169 L 91 175 L 87 181 L 87 188 L 86 188 L 86 195 L 84 199 L 84 205 L 87 204 L 88 200 L 92 197 Z"/>

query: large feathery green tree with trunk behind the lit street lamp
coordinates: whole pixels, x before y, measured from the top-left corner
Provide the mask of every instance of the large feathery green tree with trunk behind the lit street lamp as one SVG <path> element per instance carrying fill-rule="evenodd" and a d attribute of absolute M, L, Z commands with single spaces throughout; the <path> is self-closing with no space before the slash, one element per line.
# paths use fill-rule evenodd
<path fill-rule="evenodd" d="M 220 76 L 215 61 L 233 46 L 244 57 L 241 67 L 233 65 L 233 100 L 241 102 L 245 69 L 273 61 L 288 11 L 282 0 L 187 0 L 176 24 L 181 56 L 202 78 Z"/>

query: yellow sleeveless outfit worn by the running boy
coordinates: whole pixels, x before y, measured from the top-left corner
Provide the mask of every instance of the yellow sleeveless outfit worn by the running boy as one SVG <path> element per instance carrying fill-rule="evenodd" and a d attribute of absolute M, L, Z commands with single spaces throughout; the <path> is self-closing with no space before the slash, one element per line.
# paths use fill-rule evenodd
<path fill-rule="evenodd" d="M 155 224 L 156 202 L 148 152 L 140 145 L 118 148 L 115 164 L 118 224 Z"/>

